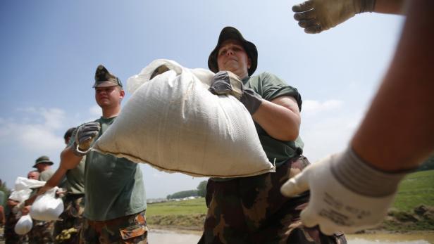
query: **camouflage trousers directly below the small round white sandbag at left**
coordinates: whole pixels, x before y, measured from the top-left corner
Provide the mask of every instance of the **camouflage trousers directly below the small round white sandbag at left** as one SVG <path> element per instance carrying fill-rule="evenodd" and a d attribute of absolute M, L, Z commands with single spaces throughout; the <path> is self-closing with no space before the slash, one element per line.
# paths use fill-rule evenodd
<path fill-rule="evenodd" d="M 54 243 L 53 238 L 53 221 L 39 221 L 32 219 L 33 227 L 27 236 L 29 244 L 47 244 Z"/>

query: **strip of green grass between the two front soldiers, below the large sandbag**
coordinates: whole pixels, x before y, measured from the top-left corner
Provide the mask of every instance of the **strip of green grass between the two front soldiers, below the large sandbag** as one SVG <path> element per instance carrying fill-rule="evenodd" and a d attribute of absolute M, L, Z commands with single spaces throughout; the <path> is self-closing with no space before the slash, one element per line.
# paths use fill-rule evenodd
<path fill-rule="evenodd" d="M 146 216 L 206 214 L 205 198 L 148 204 Z"/>

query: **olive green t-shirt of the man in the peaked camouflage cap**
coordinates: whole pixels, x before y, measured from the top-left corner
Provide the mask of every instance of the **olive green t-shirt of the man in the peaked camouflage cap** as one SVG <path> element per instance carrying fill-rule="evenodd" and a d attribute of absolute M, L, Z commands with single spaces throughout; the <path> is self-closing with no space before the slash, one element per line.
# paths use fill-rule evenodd
<path fill-rule="evenodd" d="M 99 136 L 115 117 L 101 117 Z M 146 210 L 142 170 L 135 162 L 91 151 L 85 163 L 85 217 L 95 221 L 116 219 Z"/>

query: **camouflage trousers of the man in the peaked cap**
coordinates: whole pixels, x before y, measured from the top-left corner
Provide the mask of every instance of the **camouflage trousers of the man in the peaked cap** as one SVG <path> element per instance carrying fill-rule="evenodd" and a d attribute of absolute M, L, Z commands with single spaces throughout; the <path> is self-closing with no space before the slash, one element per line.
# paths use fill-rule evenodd
<path fill-rule="evenodd" d="M 148 243 L 148 227 L 144 212 L 108 221 L 83 221 L 80 242 L 101 243 Z"/>

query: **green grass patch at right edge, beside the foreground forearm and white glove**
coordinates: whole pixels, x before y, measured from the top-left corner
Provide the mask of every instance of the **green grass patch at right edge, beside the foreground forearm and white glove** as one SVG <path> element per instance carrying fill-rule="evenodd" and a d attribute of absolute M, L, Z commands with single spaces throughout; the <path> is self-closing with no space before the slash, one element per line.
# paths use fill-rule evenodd
<path fill-rule="evenodd" d="M 434 170 L 409 174 L 399 184 L 393 207 L 412 212 L 419 205 L 434 206 Z"/>

